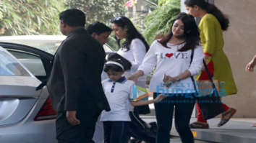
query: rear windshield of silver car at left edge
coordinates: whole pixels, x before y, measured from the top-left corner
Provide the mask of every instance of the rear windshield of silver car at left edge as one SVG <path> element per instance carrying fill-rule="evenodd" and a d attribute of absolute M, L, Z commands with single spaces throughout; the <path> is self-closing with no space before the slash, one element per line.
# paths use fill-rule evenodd
<path fill-rule="evenodd" d="M 17 59 L 2 47 L 0 47 L 0 75 L 30 76 Z"/>

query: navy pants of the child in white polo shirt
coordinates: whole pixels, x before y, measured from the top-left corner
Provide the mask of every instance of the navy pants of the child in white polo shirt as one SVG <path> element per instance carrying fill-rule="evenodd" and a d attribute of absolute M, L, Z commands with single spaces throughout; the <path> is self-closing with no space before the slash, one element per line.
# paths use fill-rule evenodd
<path fill-rule="evenodd" d="M 127 142 L 130 121 L 103 121 L 104 143 Z"/>

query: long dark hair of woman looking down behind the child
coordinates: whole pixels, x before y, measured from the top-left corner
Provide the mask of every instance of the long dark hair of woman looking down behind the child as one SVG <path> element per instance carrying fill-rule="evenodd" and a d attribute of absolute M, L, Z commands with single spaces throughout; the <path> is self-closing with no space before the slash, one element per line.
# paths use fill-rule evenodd
<path fill-rule="evenodd" d="M 111 20 L 111 23 L 116 24 L 121 28 L 127 28 L 127 41 L 125 41 L 122 45 L 122 47 L 126 48 L 127 51 L 129 50 L 129 45 L 131 45 L 132 40 L 134 40 L 135 38 L 142 40 L 143 44 L 146 47 L 146 51 L 148 51 L 148 43 L 145 41 L 144 37 L 142 37 L 142 34 L 140 34 L 140 32 L 137 31 L 135 26 L 127 17 L 116 17 L 115 19 Z M 120 40 L 116 39 L 116 42 L 119 45 L 119 47 L 121 47 Z"/>

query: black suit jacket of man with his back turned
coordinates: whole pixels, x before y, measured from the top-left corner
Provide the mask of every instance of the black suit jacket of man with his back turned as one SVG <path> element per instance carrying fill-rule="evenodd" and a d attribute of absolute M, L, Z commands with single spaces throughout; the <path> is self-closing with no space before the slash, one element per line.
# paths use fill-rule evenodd
<path fill-rule="evenodd" d="M 47 87 L 58 111 L 110 110 L 101 86 L 105 51 L 84 29 L 74 29 L 54 57 Z M 88 113 L 84 113 L 88 114 Z"/>

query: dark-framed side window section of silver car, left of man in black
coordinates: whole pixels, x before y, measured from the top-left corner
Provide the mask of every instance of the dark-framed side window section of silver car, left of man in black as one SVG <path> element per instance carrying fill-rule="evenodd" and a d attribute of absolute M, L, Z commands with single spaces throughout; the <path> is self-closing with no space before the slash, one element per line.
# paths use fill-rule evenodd
<path fill-rule="evenodd" d="M 0 42 L 0 46 L 11 52 L 38 80 L 47 80 L 54 55 L 27 45 Z"/>

